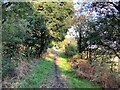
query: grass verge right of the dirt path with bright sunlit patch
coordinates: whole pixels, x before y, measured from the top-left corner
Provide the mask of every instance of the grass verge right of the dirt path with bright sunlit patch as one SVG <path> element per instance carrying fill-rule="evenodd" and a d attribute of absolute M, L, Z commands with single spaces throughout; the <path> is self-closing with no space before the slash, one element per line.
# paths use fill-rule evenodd
<path fill-rule="evenodd" d="M 67 63 L 68 59 L 63 53 L 59 53 L 61 58 L 58 59 L 58 66 L 61 72 L 61 75 L 66 78 L 69 88 L 81 88 L 81 90 L 89 88 L 91 90 L 101 90 L 98 85 L 93 84 L 92 82 L 77 78 L 75 73 L 72 72 L 72 67 Z"/>

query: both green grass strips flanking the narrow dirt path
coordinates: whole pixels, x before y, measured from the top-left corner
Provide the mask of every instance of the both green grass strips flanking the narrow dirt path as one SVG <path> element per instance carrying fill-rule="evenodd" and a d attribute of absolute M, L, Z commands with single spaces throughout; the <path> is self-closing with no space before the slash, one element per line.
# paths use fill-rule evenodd
<path fill-rule="evenodd" d="M 55 54 L 48 55 L 46 59 L 40 60 L 40 62 L 33 67 L 29 72 L 29 75 L 25 80 L 21 80 L 19 88 L 40 88 L 45 78 L 53 77 L 53 57 Z M 61 77 L 66 81 L 68 88 L 91 88 L 91 90 L 100 90 L 98 85 L 91 83 L 86 79 L 77 78 L 75 73 L 72 72 L 72 67 L 67 63 L 68 59 L 63 53 L 58 52 L 57 65 Z M 51 79 L 50 79 L 51 80 Z M 52 82 L 53 80 L 51 80 Z"/>

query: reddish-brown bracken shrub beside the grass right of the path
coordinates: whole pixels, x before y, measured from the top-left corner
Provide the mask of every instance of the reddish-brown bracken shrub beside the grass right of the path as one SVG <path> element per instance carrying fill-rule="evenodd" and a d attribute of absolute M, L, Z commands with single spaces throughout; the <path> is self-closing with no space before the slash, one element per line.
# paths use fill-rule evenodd
<path fill-rule="evenodd" d="M 71 65 L 73 66 L 73 63 Z M 89 64 L 87 60 L 78 59 L 76 60 L 76 63 L 74 63 L 74 67 L 77 77 L 86 78 L 97 83 L 103 89 L 118 88 L 115 75 L 102 66 L 97 68 L 96 66 Z"/>

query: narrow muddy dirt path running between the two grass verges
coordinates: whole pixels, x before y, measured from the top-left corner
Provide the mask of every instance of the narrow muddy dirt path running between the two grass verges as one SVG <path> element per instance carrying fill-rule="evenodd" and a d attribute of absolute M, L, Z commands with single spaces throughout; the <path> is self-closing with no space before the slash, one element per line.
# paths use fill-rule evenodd
<path fill-rule="evenodd" d="M 53 53 L 53 52 L 52 52 Z M 59 67 L 57 65 L 57 60 L 59 57 L 56 51 L 53 53 L 55 56 L 53 57 L 53 72 L 48 73 L 47 77 L 43 81 L 43 84 L 40 86 L 41 88 L 67 88 L 66 81 L 64 78 L 61 78 Z"/>

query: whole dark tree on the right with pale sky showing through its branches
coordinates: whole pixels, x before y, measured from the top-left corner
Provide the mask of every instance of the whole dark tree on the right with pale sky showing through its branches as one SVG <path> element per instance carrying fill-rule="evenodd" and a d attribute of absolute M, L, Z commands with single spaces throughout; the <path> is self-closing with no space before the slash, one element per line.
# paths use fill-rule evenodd
<path fill-rule="evenodd" d="M 83 8 L 88 9 L 88 11 L 95 11 L 97 16 L 92 18 L 91 14 L 86 13 L 88 14 L 88 17 L 83 19 L 81 17 L 84 15 L 81 15 L 79 16 L 79 19 L 77 18 L 75 27 L 77 27 L 76 31 L 79 32 L 78 46 L 80 53 L 86 49 L 89 49 L 89 52 L 91 52 L 93 51 L 90 48 L 91 45 L 97 45 L 96 48 L 102 47 L 106 50 L 106 52 L 112 51 L 116 56 L 119 57 L 119 12 L 117 13 L 115 8 L 113 8 L 114 6 L 110 6 L 110 4 L 111 3 L 109 2 L 97 2 L 94 4 L 92 3 L 94 6 L 90 4 L 84 5 Z M 89 8 L 87 8 L 87 6 L 89 6 Z M 117 7 L 119 7 L 119 4 Z M 85 12 L 83 8 L 82 10 L 79 10 L 81 13 Z"/>

